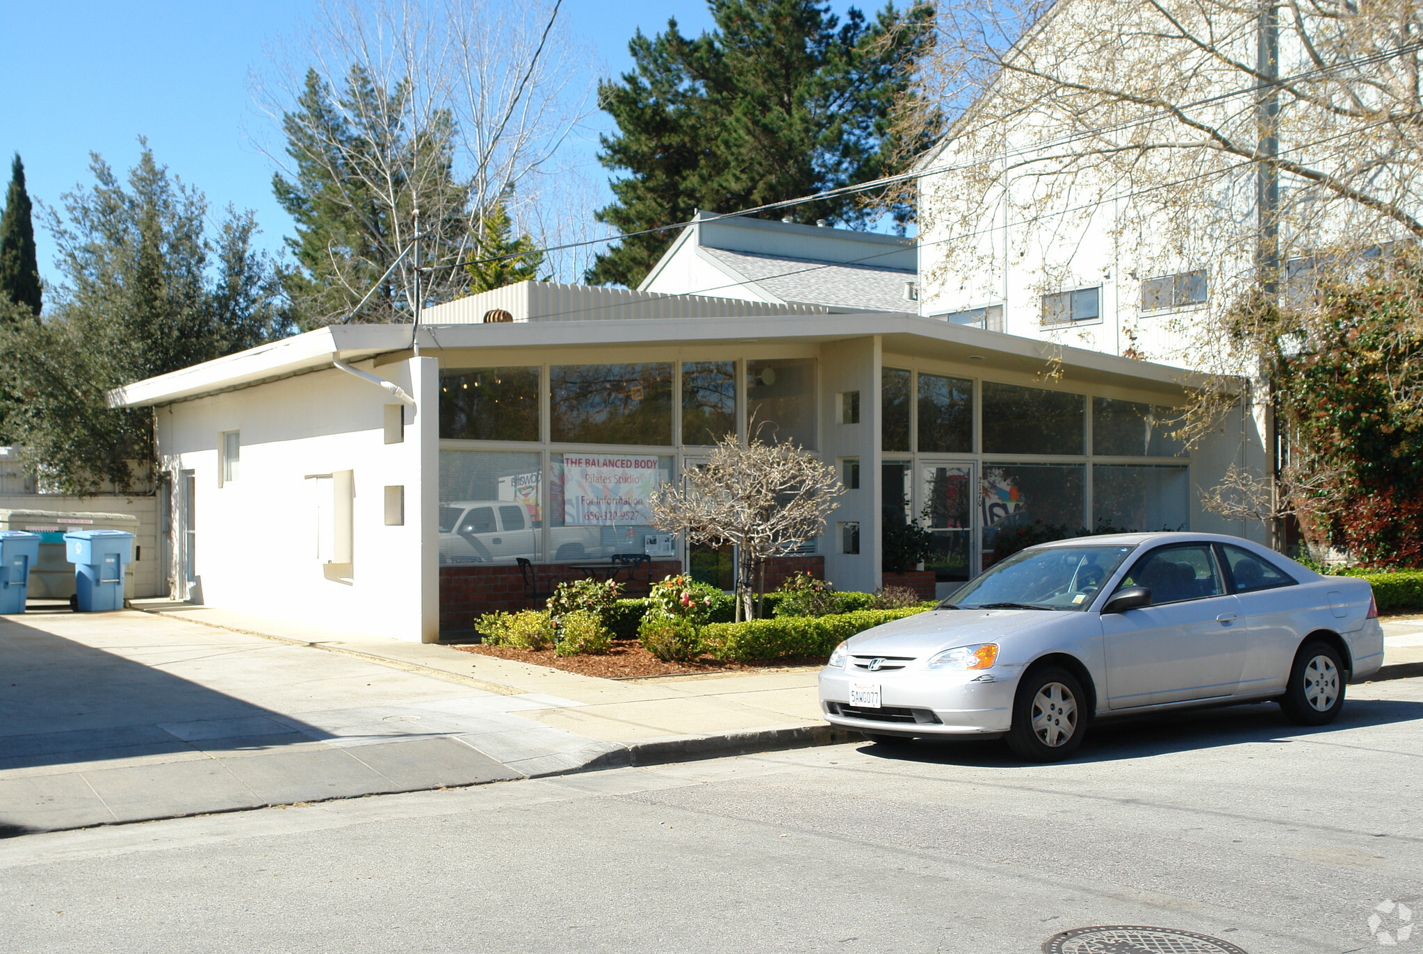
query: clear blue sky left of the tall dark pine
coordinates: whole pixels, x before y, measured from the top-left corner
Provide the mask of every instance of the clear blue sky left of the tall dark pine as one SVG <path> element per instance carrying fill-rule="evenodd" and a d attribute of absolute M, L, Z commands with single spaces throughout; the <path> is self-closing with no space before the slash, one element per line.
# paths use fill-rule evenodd
<path fill-rule="evenodd" d="M 248 139 L 249 131 L 265 131 L 265 119 L 250 105 L 246 78 L 265 63 L 268 44 L 290 36 L 312 7 L 310 0 L 6 3 L 3 178 L 18 151 L 31 198 L 57 205 L 61 192 L 92 182 L 91 151 L 122 172 L 145 135 L 158 161 L 206 192 L 213 210 L 229 202 L 256 209 L 263 245 L 276 249 L 290 220 L 272 198 L 269 161 Z M 630 65 L 628 38 L 638 27 L 655 33 L 669 16 L 684 33 L 710 27 L 702 0 L 565 0 L 564 16 L 609 73 Z M 593 124 L 606 128 L 606 117 Z M 40 272 L 53 282 L 54 246 L 40 225 Z"/>

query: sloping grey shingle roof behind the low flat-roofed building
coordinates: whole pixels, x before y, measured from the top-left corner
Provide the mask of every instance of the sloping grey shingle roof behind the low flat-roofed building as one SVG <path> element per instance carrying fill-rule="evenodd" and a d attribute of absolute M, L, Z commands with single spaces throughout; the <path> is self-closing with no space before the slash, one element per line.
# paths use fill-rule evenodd
<path fill-rule="evenodd" d="M 707 246 L 702 246 L 699 252 L 713 256 L 781 301 L 805 301 L 857 311 L 915 310 L 914 303 L 904 297 L 904 283 L 914 282 L 915 273 L 904 269 L 751 254 Z"/>

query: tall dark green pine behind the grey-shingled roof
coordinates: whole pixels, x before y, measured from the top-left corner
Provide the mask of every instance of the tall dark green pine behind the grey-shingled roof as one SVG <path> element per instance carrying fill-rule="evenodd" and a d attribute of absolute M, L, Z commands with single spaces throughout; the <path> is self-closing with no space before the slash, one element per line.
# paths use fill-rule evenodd
<path fill-rule="evenodd" d="M 623 233 L 794 199 L 891 172 L 888 119 L 924 48 L 931 11 L 892 6 L 844 26 L 815 0 L 710 0 L 716 30 L 684 37 L 676 20 L 629 43 L 636 70 L 603 82 L 618 124 L 599 161 L 615 202 L 598 220 Z M 855 196 L 807 203 L 803 222 L 862 226 Z M 901 210 L 902 213 L 902 210 Z M 773 213 L 781 218 L 780 212 Z M 593 283 L 635 287 L 672 240 L 630 236 L 598 256 Z"/>

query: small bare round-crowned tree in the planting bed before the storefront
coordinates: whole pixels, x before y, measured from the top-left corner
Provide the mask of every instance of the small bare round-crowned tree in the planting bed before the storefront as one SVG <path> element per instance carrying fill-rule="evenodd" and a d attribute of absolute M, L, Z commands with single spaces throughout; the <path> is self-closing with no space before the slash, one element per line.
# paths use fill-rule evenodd
<path fill-rule="evenodd" d="M 791 553 L 825 532 L 845 488 L 835 468 L 793 444 L 743 445 L 727 435 L 683 486 L 663 483 L 652 498 L 659 529 L 689 543 L 737 547 L 736 616 L 751 618 L 756 573 L 767 557 Z"/>

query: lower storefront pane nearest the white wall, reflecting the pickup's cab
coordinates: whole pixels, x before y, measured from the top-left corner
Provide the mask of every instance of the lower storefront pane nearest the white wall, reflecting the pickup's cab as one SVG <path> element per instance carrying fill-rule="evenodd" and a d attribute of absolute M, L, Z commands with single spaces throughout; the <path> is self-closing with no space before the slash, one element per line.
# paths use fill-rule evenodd
<path fill-rule="evenodd" d="M 514 563 L 542 554 L 539 455 L 440 452 L 440 562 Z"/>

